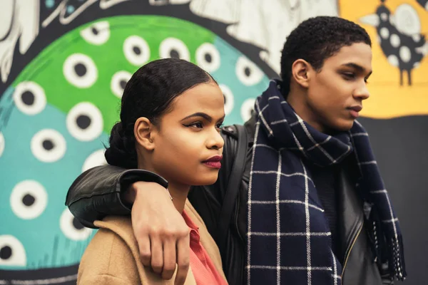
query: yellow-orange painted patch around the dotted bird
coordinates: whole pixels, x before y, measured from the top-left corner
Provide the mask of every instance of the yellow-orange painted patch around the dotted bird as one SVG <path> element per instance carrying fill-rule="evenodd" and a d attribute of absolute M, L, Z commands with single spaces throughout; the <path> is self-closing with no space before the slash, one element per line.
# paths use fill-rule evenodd
<path fill-rule="evenodd" d="M 428 11 L 415 0 L 386 0 L 391 14 L 400 4 L 409 4 L 417 11 L 421 23 L 421 33 L 428 41 Z M 341 0 L 340 16 L 354 21 L 367 30 L 372 38 L 373 74 L 370 76 L 368 88 L 370 98 L 365 101 L 362 115 L 371 118 L 394 118 L 405 115 L 428 115 L 428 55 L 420 62 L 420 66 L 412 70 L 412 86 L 407 84 L 407 72 L 403 73 L 403 86 L 399 85 L 399 68 L 387 61 L 377 41 L 376 28 L 362 24 L 360 18 L 375 14 L 381 1 L 374 0 Z"/>

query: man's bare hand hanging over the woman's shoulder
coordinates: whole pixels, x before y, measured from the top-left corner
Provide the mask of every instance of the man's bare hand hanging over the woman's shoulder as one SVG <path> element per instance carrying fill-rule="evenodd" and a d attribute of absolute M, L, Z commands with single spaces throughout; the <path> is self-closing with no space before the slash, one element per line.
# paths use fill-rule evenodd
<path fill-rule="evenodd" d="M 132 226 L 141 262 L 163 279 L 172 278 L 177 264 L 175 285 L 184 284 L 189 269 L 190 230 L 168 191 L 154 182 L 135 182 L 125 198 L 133 202 Z"/>

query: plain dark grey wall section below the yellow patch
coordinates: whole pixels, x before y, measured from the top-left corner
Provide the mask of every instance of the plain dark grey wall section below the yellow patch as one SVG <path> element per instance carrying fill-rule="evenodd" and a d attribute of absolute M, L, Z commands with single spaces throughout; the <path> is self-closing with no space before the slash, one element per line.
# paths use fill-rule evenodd
<path fill-rule="evenodd" d="M 428 268 L 428 116 L 360 119 L 370 135 L 404 235 L 406 285 L 425 284 Z M 401 284 L 401 283 L 399 283 Z"/>

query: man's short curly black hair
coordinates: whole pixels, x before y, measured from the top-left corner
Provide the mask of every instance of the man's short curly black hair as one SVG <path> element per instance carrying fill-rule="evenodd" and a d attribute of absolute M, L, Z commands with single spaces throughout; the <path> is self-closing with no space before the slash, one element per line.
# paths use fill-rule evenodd
<path fill-rule="evenodd" d="M 325 59 L 334 56 L 343 46 L 367 43 L 370 36 L 352 21 L 332 16 L 310 18 L 297 26 L 287 37 L 281 55 L 282 94 L 290 92 L 291 66 L 302 58 L 320 71 Z"/>

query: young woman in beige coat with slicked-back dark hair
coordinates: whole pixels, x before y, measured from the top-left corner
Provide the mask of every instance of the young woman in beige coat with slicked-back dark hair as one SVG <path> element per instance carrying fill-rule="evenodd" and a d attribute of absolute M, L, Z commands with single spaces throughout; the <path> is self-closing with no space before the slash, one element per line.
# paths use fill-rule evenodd
<path fill-rule="evenodd" d="M 110 165 L 148 170 L 168 181 L 175 209 L 190 231 L 185 284 L 227 284 L 218 248 L 187 200 L 191 185 L 217 180 L 224 117 L 223 93 L 208 73 L 179 59 L 152 61 L 126 85 L 121 121 L 113 126 L 106 150 Z M 131 217 L 106 217 L 94 224 L 100 229 L 83 254 L 78 284 L 173 284 L 174 278 L 165 281 L 143 266 Z M 152 242 L 153 268 L 165 265 L 158 260 L 175 264 L 180 258 L 156 257 L 165 247 Z"/>

